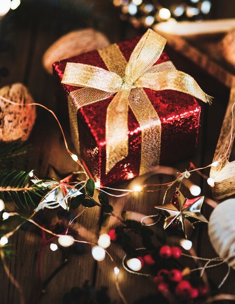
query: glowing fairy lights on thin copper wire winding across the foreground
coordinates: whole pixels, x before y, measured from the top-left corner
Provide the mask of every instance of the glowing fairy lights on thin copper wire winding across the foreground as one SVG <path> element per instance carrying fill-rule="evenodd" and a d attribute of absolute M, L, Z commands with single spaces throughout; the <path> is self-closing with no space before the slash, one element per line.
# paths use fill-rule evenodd
<path fill-rule="evenodd" d="M 11 100 L 8 100 L 8 99 L 6 99 L 6 98 L 4 98 L 4 97 L 2 97 L 2 96 L 0 96 L 0 99 L 3 100 L 3 101 L 5 101 L 5 102 L 8 102 L 8 103 L 10 103 L 10 104 L 14 104 L 14 105 L 17 105 L 17 106 L 21 106 L 21 104 L 16 103 L 16 102 L 11 101 Z M 56 119 L 56 121 L 57 121 L 57 123 L 58 123 L 58 125 L 59 125 L 59 127 L 60 127 L 60 129 L 61 129 L 61 132 L 62 132 L 62 135 L 63 135 L 63 140 L 64 140 L 64 145 L 65 145 L 65 148 L 66 148 L 67 152 L 70 154 L 71 158 L 72 158 L 76 163 L 78 163 L 79 166 L 81 166 L 81 168 L 82 168 L 83 171 L 80 171 L 80 173 L 85 174 L 85 180 L 83 181 L 83 184 L 81 185 L 81 182 L 78 182 L 78 183 L 74 183 L 74 182 L 73 182 L 73 183 L 71 183 L 71 184 L 72 184 L 72 187 L 74 188 L 74 187 L 76 187 L 76 186 L 78 186 L 78 185 L 80 185 L 81 187 L 86 186 L 86 182 L 87 182 L 87 180 L 88 180 L 88 174 L 86 173 L 84 167 L 82 166 L 82 163 L 79 161 L 78 155 L 74 154 L 73 152 L 71 152 L 71 151 L 69 150 L 68 144 L 67 144 L 67 141 L 66 141 L 64 132 L 63 132 L 63 128 L 62 128 L 62 126 L 61 126 L 61 124 L 60 124 L 58 118 L 56 117 L 55 113 L 54 113 L 52 110 L 48 109 L 47 107 L 45 107 L 44 105 L 42 105 L 42 104 L 40 104 L 40 103 L 29 103 L 29 104 L 26 104 L 26 105 L 24 105 L 24 106 L 32 106 L 32 105 L 37 105 L 37 106 L 43 107 L 44 109 L 46 109 L 48 112 L 50 112 L 50 113 L 54 116 L 54 118 Z M 230 143 L 229 143 L 229 147 L 228 147 L 228 149 L 227 149 L 225 155 L 224 155 L 221 159 L 219 159 L 219 160 L 217 160 L 217 161 L 214 161 L 214 162 L 212 162 L 211 164 L 209 164 L 209 165 L 207 165 L 207 166 L 205 166 L 205 167 L 203 167 L 203 168 L 195 168 L 195 166 L 191 166 L 193 169 L 185 170 L 185 171 L 182 172 L 182 173 L 177 172 L 177 173 L 178 173 L 178 176 L 177 176 L 172 182 L 170 182 L 170 183 L 165 183 L 165 184 L 153 184 L 153 185 L 151 185 L 151 186 L 167 186 L 167 187 L 170 187 L 170 186 L 172 186 L 173 183 L 175 183 L 175 182 L 177 182 L 177 181 L 178 181 L 178 182 L 182 182 L 183 179 L 188 180 L 189 177 L 190 177 L 190 175 L 191 175 L 191 173 L 194 172 L 194 171 L 195 171 L 195 172 L 200 172 L 200 170 L 209 168 L 209 167 L 211 167 L 211 166 L 217 167 L 217 166 L 219 165 L 219 163 L 226 157 L 226 155 L 227 155 L 227 153 L 228 153 L 228 151 L 229 151 L 229 149 L 231 148 L 231 145 L 232 145 L 232 139 L 233 139 L 233 124 L 234 124 L 234 113 L 233 113 L 233 111 L 234 111 L 234 105 L 235 105 L 235 102 L 234 102 L 234 104 L 233 104 L 233 106 L 232 106 L 232 123 L 231 123 Z M 166 170 L 167 170 L 167 169 L 166 169 Z M 159 170 L 158 170 L 158 172 L 159 172 Z M 154 173 L 156 173 L 156 172 L 154 172 Z M 152 173 L 150 173 L 150 174 L 152 174 Z M 207 183 L 208 183 L 209 186 L 214 186 L 214 180 L 212 180 L 211 178 L 205 176 L 205 175 L 202 174 L 202 173 L 200 173 L 200 174 L 203 175 L 204 178 L 207 178 Z M 29 173 L 29 176 L 30 176 L 30 177 L 33 177 L 33 178 L 35 178 L 35 179 L 38 179 L 38 178 L 34 175 L 33 171 L 31 171 L 31 172 Z M 136 178 L 136 179 L 138 179 L 138 178 Z M 189 181 L 188 181 L 188 182 L 189 182 Z M 191 194 L 192 194 L 193 196 L 197 196 L 197 195 L 199 195 L 199 194 L 201 193 L 201 188 L 200 188 L 199 186 L 193 185 L 193 184 L 190 183 L 190 182 L 188 183 L 188 185 L 189 185 L 189 190 L 190 190 L 190 192 L 191 192 Z M 108 195 L 115 196 L 115 197 L 119 197 L 120 195 L 111 194 L 111 193 L 109 193 L 108 191 L 105 191 L 104 189 L 110 189 L 110 190 L 115 190 L 115 191 L 124 192 L 124 193 L 122 193 L 121 195 L 128 195 L 128 194 L 131 194 L 131 193 L 133 193 L 133 192 L 150 192 L 150 191 L 153 191 L 153 190 L 145 190 L 145 187 L 146 187 L 146 186 L 149 186 L 149 185 L 147 185 L 147 184 L 142 184 L 142 185 L 141 185 L 141 184 L 136 184 L 136 185 L 133 186 L 133 188 L 131 188 L 131 189 L 118 189 L 118 188 L 100 186 L 100 185 L 99 185 L 99 181 L 97 181 L 96 184 L 95 184 L 95 188 L 97 188 L 97 189 L 99 189 L 99 190 L 101 190 L 101 191 L 106 192 Z M 155 190 L 156 190 L 156 189 L 155 189 Z M 157 191 L 157 190 L 156 190 L 156 191 Z M 5 209 L 5 204 L 4 204 L 4 202 L 3 202 L 2 200 L 0 200 L 0 212 L 1 212 L 1 211 L 4 211 L 4 209 Z M 86 209 L 87 209 L 87 208 L 85 208 L 82 212 L 80 212 L 80 213 L 76 216 L 76 219 L 77 219 L 77 218 L 78 218 Z M 67 233 L 68 233 L 68 229 L 66 230 L 65 234 L 63 234 L 63 235 L 55 234 L 54 232 L 52 232 L 52 231 L 46 229 L 45 227 L 39 225 L 37 222 L 35 222 L 34 220 L 32 220 L 32 218 L 33 218 L 33 216 L 35 215 L 35 213 L 36 213 L 36 212 L 34 211 L 34 213 L 31 215 L 30 218 L 23 218 L 23 219 L 24 219 L 25 221 L 30 221 L 31 223 L 33 223 L 34 225 L 36 225 L 37 227 L 39 227 L 39 228 L 42 229 L 43 231 L 47 232 L 48 234 L 50 234 L 50 235 L 52 235 L 52 236 L 58 237 L 58 243 L 59 243 L 59 245 L 62 246 L 62 247 L 65 247 L 65 248 L 66 248 L 66 247 L 70 247 L 70 246 L 72 246 L 75 242 L 89 244 L 89 245 L 92 246 L 91 253 L 92 253 L 92 256 L 93 256 L 94 260 L 96 260 L 96 261 L 102 261 L 102 260 L 105 259 L 106 255 L 108 255 L 108 256 L 110 257 L 111 262 L 113 263 L 113 272 L 114 272 L 115 276 L 118 277 L 119 272 L 120 272 L 120 269 L 119 269 L 118 266 L 116 265 L 116 263 L 115 263 L 113 257 L 112 257 L 112 256 L 110 255 L 110 253 L 108 253 L 108 251 L 107 251 L 107 248 L 110 246 L 110 243 L 111 243 L 111 237 L 110 237 L 109 234 L 101 234 L 101 235 L 99 236 L 99 238 L 98 238 L 97 244 L 96 244 L 96 243 L 93 243 L 93 242 L 88 242 L 88 241 L 82 241 L 82 240 L 77 240 L 77 239 L 75 239 L 73 236 L 67 234 Z M 16 215 L 22 218 L 22 216 L 21 216 L 20 214 L 16 213 L 16 212 L 6 212 L 6 211 L 4 211 L 4 212 L 2 213 L 2 218 L 3 218 L 3 220 L 6 220 L 6 219 L 8 219 L 8 218 L 11 217 L 11 216 L 16 216 Z M 73 222 L 73 220 L 71 220 L 71 221 L 69 222 L 69 225 L 71 225 L 72 222 Z M 20 228 L 20 226 L 21 226 L 21 224 L 20 224 L 19 226 L 17 226 L 13 231 L 7 233 L 7 234 L 4 235 L 4 236 L 1 236 L 1 238 L 0 238 L 0 247 L 1 247 L 1 246 L 5 246 L 5 245 L 8 243 L 9 237 L 12 236 L 12 235 Z M 182 248 L 184 248 L 184 249 L 187 250 L 187 251 L 190 251 L 191 248 L 192 248 L 192 242 L 191 242 L 190 240 L 188 240 L 188 239 L 181 239 L 181 240 L 180 240 L 180 245 L 182 246 Z M 58 248 L 59 248 L 58 245 L 57 245 L 56 243 L 54 243 L 54 242 L 51 242 L 49 247 L 50 247 L 50 250 L 51 250 L 52 252 L 57 251 Z M 211 267 L 211 266 L 208 265 L 210 261 L 214 261 L 214 260 L 213 260 L 213 259 L 207 259 L 207 262 L 208 262 L 208 263 L 204 266 L 203 270 L 204 270 L 205 268 Z M 220 263 L 221 261 L 219 260 L 218 262 Z M 131 258 L 131 259 L 128 259 L 128 260 L 125 262 L 125 264 L 127 265 L 128 269 L 129 269 L 130 271 L 135 271 L 136 273 L 137 273 L 139 270 L 141 270 L 141 265 L 140 265 L 140 263 L 141 263 L 141 262 L 140 262 L 140 260 L 139 260 L 138 258 Z M 220 265 L 220 264 L 218 264 L 218 265 Z M 129 271 L 129 272 L 130 272 L 130 271 Z M 228 276 L 228 274 L 226 274 L 226 278 L 227 278 L 227 276 Z M 222 282 L 224 282 L 224 281 L 225 281 L 225 279 L 224 279 Z M 127 302 L 126 302 L 125 297 L 123 296 L 123 294 L 122 294 L 122 292 L 121 292 L 121 290 L 120 290 L 120 287 L 119 287 L 119 284 L 118 284 L 118 280 L 115 281 L 115 284 L 116 284 L 116 287 L 117 287 L 117 290 L 118 290 L 118 293 L 119 293 L 120 297 L 123 299 L 123 302 L 126 304 Z"/>

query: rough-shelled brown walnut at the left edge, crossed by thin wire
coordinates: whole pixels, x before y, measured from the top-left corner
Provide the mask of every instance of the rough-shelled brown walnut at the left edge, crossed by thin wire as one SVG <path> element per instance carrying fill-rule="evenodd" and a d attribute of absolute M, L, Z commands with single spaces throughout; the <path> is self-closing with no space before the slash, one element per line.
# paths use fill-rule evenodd
<path fill-rule="evenodd" d="M 0 96 L 17 103 L 28 104 L 33 99 L 23 84 L 12 84 L 0 89 Z M 28 139 L 36 118 L 35 106 L 18 106 L 0 99 L 0 141 Z"/>

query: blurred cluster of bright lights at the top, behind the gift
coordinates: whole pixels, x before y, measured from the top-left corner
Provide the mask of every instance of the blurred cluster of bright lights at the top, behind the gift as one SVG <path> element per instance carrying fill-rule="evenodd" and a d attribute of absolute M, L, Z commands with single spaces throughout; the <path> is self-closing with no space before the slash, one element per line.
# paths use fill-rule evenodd
<path fill-rule="evenodd" d="M 128 20 L 135 28 L 151 27 L 169 20 L 200 20 L 211 11 L 209 0 L 187 0 L 164 7 L 158 0 L 112 0 L 119 7 L 121 19 Z M 164 2 L 164 1 L 162 1 Z"/>

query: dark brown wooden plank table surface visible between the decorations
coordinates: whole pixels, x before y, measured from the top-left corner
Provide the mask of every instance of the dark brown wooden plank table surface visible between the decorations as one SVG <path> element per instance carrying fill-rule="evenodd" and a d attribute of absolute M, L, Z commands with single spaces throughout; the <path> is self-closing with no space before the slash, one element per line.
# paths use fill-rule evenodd
<path fill-rule="evenodd" d="M 95 2 L 95 14 L 97 15 L 95 25 L 109 37 L 111 42 L 117 42 L 140 34 L 126 23 L 120 21 L 117 11 L 110 1 L 97 0 Z M 68 17 L 59 20 L 52 18 L 54 21 L 51 20 L 53 8 L 48 9 L 50 11 L 48 14 L 46 9 L 45 11 L 37 10 L 34 7 L 32 11 L 34 13 L 29 14 L 28 12 L 24 14 L 22 4 L 18 12 L 12 12 L 10 16 L 5 17 L 0 25 L 0 39 L 7 39 L 11 44 L 9 51 L 0 53 L 0 67 L 5 66 L 9 69 L 9 76 L 1 78 L 0 85 L 22 82 L 29 87 L 35 101 L 47 105 L 51 109 L 60 110 L 60 105 L 57 104 L 54 98 L 53 78 L 46 73 L 42 67 L 41 60 L 51 43 L 68 29 L 76 28 L 76 22 Z M 21 19 L 20 16 L 22 16 Z M 174 167 L 178 170 L 187 169 L 190 161 L 197 167 L 203 167 L 212 161 L 226 110 L 229 90 L 170 48 L 168 48 L 168 53 L 178 69 L 190 73 L 207 94 L 215 97 L 212 106 L 200 103 L 202 105 L 201 127 L 199 144 L 194 157 L 174 164 Z M 74 162 L 66 153 L 63 137 L 55 119 L 45 110 L 40 108 L 37 110 L 37 120 L 30 137 L 33 149 L 29 157 L 28 169 L 35 169 L 35 174 L 41 178 L 45 177 L 48 164 L 53 165 L 63 173 L 76 170 Z M 71 143 L 70 147 L 72 147 Z M 208 174 L 208 171 L 206 173 Z M 172 180 L 172 176 L 156 175 L 152 177 L 151 182 L 165 183 L 170 180 Z M 195 173 L 191 180 L 201 186 L 203 195 L 211 197 L 210 188 L 200 175 Z M 128 183 L 119 186 L 126 187 Z M 144 195 L 135 193 L 125 198 L 113 198 L 111 203 L 115 213 L 120 213 L 121 210 L 125 209 L 150 215 L 155 213 L 154 205 L 162 202 L 164 190 Z M 188 189 L 184 190 L 190 197 Z M 212 208 L 204 204 L 203 213 L 207 219 L 211 212 Z M 112 220 L 109 227 L 100 229 L 99 220 L 100 209 L 98 207 L 87 210 L 79 220 L 78 233 L 81 238 L 97 241 L 97 235 L 101 231 L 107 231 L 116 223 L 116 221 Z M 136 246 L 140 245 L 138 239 L 133 241 L 136 242 Z M 216 256 L 210 245 L 206 226 L 195 231 L 192 241 L 198 256 Z M 35 294 L 35 290 L 38 287 L 37 259 L 42 244 L 41 237 L 37 236 L 31 227 L 26 232 L 19 231 L 16 233 L 12 237 L 11 243 L 16 254 L 12 256 L 7 264 L 13 276 L 21 284 L 26 303 L 33 304 L 33 294 Z M 121 260 L 124 252 L 120 246 L 111 244 L 109 251 L 120 266 L 120 287 L 128 303 L 135 303 L 142 297 L 156 292 L 156 286 L 150 280 L 123 270 Z M 61 262 L 61 252 L 52 252 L 47 247 L 42 261 L 42 277 L 46 279 Z M 226 271 L 227 267 L 223 265 L 208 270 L 207 274 L 216 285 L 219 285 Z M 41 297 L 38 303 L 62 304 L 63 295 L 72 287 L 81 287 L 85 280 L 89 280 L 96 289 L 103 286 L 108 287 L 111 300 L 113 302 L 116 301 L 115 303 L 122 303 L 114 284 L 114 273 L 110 260 L 106 258 L 102 262 L 95 262 L 89 246 L 86 247 L 86 252 L 80 256 L 70 254 L 67 265 L 51 280 L 44 296 Z M 228 280 L 221 288 L 221 292 L 235 292 L 234 271 L 231 271 Z M 18 292 L 8 280 L 2 268 L 0 268 L 0 303 L 19 303 Z M 142 303 L 146 302 L 143 300 Z"/>

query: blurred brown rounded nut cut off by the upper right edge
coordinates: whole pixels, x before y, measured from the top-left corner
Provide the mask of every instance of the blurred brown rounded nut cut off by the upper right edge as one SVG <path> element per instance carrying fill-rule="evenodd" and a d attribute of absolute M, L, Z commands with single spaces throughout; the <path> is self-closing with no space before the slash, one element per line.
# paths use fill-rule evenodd
<path fill-rule="evenodd" d="M 235 68 L 235 29 L 225 35 L 221 45 L 225 60 Z"/>

